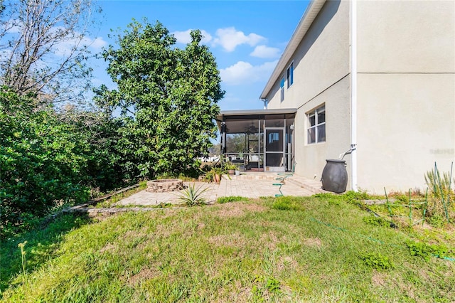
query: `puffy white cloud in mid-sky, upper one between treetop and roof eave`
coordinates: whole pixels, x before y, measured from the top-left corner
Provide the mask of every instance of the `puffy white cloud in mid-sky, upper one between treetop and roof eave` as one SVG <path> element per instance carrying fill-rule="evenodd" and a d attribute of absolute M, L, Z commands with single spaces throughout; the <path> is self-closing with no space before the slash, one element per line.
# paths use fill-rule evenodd
<path fill-rule="evenodd" d="M 256 33 L 250 33 L 248 36 L 245 36 L 245 33 L 236 31 L 234 27 L 218 28 L 216 36 L 217 38 L 213 40 L 213 44 L 223 46 L 228 52 L 234 51 L 241 44 L 255 46 L 257 43 L 265 40 L 264 37 Z"/>

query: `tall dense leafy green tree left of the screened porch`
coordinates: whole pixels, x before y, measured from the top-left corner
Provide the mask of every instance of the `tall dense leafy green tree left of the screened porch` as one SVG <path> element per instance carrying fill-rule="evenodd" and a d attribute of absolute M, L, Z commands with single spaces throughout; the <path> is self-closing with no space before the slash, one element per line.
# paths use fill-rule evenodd
<path fill-rule="evenodd" d="M 97 102 L 122 110 L 118 142 L 125 171 L 131 176 L 178 174 L 196 169 L 196 158 L 208 154 L 213 123 L 224 92 L 215 58 L 200 44 L 176 48 L 176 38 L 159 22 L 133 21 L 119 34 L 119 47 L 102 53 L 116 90 L 102 86 Z"/>

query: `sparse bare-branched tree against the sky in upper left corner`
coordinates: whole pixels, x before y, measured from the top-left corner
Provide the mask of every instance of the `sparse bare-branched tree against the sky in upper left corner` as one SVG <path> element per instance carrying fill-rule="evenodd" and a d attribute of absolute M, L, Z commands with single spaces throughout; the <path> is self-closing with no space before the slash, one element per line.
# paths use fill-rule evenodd
<path fill-rule="evenodd" d="M 2 1 L 3 2 L 3 1 Z M 0 85 L 39 105 L 72 100 L 90 85 L 87 38 L 100 11 L 92 0 L 5 0 L 0 14 Z M 52 64 L 50 64 L 52 63 Z"/>

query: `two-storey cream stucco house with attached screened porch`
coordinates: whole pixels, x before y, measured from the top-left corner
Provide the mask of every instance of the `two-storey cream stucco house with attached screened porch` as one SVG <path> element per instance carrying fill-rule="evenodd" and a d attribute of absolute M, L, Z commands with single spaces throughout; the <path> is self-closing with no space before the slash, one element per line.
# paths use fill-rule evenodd
<path fill-rule="evenodd" d="M 266 110 L 221 112 L 225 154 L 229 125 L 251 117 L 259 170 L 319 180 L 351 149 L 348 189 L 423 188 L 435 161 L 455 161 L 455 1 L 311 1 L 260 99 Z"/>

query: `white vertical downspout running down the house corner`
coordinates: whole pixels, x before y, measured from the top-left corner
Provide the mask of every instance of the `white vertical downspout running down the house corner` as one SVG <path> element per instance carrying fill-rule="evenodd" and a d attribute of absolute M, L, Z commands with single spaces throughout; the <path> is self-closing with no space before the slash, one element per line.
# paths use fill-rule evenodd
<path fill-rule="evenodd" d="M 350 188 L 357 191 L 357 0 L 350 1 Z"/>

